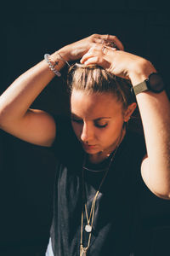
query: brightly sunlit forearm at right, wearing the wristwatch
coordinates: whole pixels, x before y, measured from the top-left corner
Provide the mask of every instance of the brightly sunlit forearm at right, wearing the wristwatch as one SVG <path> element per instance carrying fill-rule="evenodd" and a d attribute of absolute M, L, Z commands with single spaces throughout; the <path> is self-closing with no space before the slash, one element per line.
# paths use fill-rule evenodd
<path fill-rule="evenodd" d="M 133 76 L 133 85 L 152 72 L 156 72 L 155 68 L 146 61 L 144 70 Z M 157 195 L 167 197 L 170 194 L 170 102 L 165 91 L 159 94 L 146 91 L 136 98 L 148 154 L 142 170 L 144 182 Z"/>

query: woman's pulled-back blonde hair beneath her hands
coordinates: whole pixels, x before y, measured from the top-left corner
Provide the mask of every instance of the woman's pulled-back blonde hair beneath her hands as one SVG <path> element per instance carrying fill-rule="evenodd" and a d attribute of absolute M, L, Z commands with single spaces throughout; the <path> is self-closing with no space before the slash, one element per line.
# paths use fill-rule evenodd
<path fill-rule="evenodd" d="M 135 98 L 131 92 L 132 85 L 125 79 L 118 78 L 104 68 L 84 64 L 70 67 L 67 84 L 70 90 L 82 90 L 88 94 L 111 92 L 126 109 Z"/>

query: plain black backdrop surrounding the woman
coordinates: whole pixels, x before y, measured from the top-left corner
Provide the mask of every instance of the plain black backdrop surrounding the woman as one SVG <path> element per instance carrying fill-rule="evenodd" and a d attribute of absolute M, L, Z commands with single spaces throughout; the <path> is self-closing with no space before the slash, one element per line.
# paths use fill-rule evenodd
<path fill-rule="evenodd" d="M 92 33 L 114 34 L 125 50 L 154 63 L 169 96 L 168 1 L 27 1 L 1 6 L 1 93 L 29 67 Z M 33 108 L 67 113 L 62 79 L 42 91 Z M 0 131 L 0 255 L 44 255 L 52 218 L 54 154 Z M 170 255 L 170 203 L 146 189 L 143 233 L 136 255 Z M 122 245 L 123 246 L 123 245 Z"/>

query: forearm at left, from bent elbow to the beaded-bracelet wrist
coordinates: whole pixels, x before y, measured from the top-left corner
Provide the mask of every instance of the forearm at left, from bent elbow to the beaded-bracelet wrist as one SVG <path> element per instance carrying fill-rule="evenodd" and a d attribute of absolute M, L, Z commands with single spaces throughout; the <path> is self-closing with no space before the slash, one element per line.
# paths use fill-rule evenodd
<path fill-rule="evenodd" d="M 58 52 L 65 59 L 67 58 L 67 53 L 63 49 Z M 59 71 L 64 67 L 65 62 L 59 58 L 58 52 L 51 55 L 51 59 L 52 61 L 59 61 L 56 66 Z M 45 60 L 20 75 L 0 96 L 0 124 L 8 119 L 12 121 L 24 116 L 31 103 L 34 102 L 54 76 L 54 72 L 50 70 Z"/>

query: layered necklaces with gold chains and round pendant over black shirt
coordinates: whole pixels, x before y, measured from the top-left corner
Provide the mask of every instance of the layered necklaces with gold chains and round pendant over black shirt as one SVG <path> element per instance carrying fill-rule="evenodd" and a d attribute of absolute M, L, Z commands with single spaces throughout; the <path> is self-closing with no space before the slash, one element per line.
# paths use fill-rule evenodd
<path fill-rule="evenodd" d="M 82 199 L 83 199 L 84 205 L 82 206 L 80 256 L 86 256 L 87 252 L 88 252 L 88 248 L 90 247 L 90 241 L 91 241 L 91 237 L 92 237 L 93 224 L 94 224 L 95 203 L 96 203 L 97 197 L 99 195 L 99 190 L 101 189 L 101 186 L 105 181 L 105 177 L 107 176 L 107 173 L 109 172 L 109 169 L 111 167 L 111 163 L 112 163 L 112 161 L 113 161 L 113 159 L 116 155 L 117 148 L 119 147 L 121 141 L 122 141 L 122 133 L 121 133 L 119 141 L 116 145 L 115 151 L 111 154 L 111 160 L 110 160 L 108 166 L 105 169 L 99 170 L 99 171 L 105 171 L 105 174 L 104 174 L 104 177 L 101 180 L 101 183 L 99 183 L 99 188 L 97 189 L 96 194 L 94 195 L 94 200 L 92 201 L 92 206 L 91 206 L 91 209 L 90 209 L 89 216 L 88 216 L 87 202 L 85 200 L 86 199 L 86 190 L 85 190 L 85 182 L 84 182 L 84 170 L 88 170 L 88 171 L 91 171 L 91 172 L 97 172 L 97 171 L 87 168 L 85 166 L 86 165 L 86 160 L 84 158 L 83 165 L 82 165 Z M 83 232 L 84 232 L 84 230 L 83 230 L 84 212 L 85 212 L 86 220 L 87 220 L 87 223 L 85 224 L 85 229 L 84 229 L 86 232 L 88 232 L 88 245 L 87 245 L 87 247 L 83 247 L 83 244 L 82 244 Z"/>

